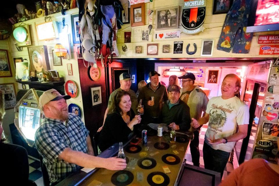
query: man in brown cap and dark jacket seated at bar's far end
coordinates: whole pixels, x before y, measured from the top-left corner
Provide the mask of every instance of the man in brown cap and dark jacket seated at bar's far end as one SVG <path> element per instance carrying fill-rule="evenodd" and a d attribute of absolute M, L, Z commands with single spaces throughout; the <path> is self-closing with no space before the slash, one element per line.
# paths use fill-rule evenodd
<path fill-rule="evenodd" d="M 190 129 L 190 109 L 179 98 L 180 87 L 171 85 L 168 88 L 168 100 L 162 107 L 162 123 L 166 123 L 175 130 L 188 131 Z"/>

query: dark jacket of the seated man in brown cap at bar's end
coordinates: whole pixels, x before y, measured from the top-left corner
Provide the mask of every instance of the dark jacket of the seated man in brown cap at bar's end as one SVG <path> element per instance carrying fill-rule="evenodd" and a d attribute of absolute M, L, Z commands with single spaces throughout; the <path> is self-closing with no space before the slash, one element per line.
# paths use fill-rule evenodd
<path fill-rule="evenodd" d="M 190 108 L 189 106 L 181 101 L 178 102 L 169 109 L 169 100 L 164 102 L 162 107 L 162 123 L 170 124 L 175 122 L 179 125 L 180 130 L 188 131 L 191 127 L 191 117 L 190 117 Z"/>

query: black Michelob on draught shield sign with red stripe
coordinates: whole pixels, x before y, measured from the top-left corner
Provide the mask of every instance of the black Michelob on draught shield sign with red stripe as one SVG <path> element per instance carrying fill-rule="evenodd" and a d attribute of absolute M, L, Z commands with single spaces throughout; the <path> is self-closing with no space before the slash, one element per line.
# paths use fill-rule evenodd
<path fill-rule="evenodd" d="M 203 31 L 203 22 L 206 15 L 205 0 L 184 0 L 184 8 L 181 13 L 182 32 L 196 34 Z"/>

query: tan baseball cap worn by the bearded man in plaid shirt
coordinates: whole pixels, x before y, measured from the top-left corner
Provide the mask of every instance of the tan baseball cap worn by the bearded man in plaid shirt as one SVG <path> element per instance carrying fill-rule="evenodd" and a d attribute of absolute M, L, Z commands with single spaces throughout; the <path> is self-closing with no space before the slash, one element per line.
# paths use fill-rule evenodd
<path fill-rule="evenodd" d="M 45 91 L 39 98 L 39 106 L 43 108 L 45 104 L 47 104 L 50 101 L 56 101 L 64 98 L 65 100 L 68 100 L 71 98 L 69 95 L 61 95 L 57 90 L 50 89 L 48 91 Z"/>

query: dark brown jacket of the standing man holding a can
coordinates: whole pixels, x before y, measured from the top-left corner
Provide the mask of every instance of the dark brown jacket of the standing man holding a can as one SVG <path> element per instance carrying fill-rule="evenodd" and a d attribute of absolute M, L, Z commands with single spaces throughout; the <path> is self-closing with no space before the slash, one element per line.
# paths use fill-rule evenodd
<path fill-rule="evenodd" d="M 151 100 L 151 96 L 154 96 L 154 105 L 149 106 L 147 102 Z M 168 100 L 167 89 L 164 85 L 159 83 L 158 88 L 154 91 L 150 87 L 150 83 L 142 87 L 140 90 L 138 101 L 142 99 L 142 105 L 144 106 L 144 115 L 150 117 L 159 117 L 162 109 L 163 102 Z"/>

